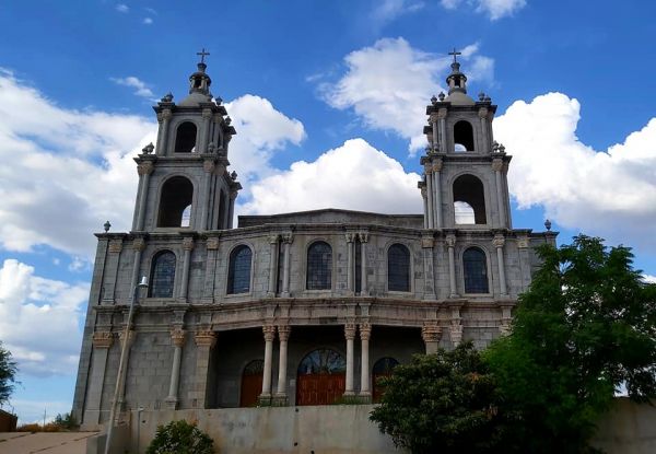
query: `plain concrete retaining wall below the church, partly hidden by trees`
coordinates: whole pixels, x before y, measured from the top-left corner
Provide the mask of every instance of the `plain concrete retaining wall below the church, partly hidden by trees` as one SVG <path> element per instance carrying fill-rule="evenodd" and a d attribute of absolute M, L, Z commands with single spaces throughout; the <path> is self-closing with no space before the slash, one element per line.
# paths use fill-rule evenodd
<path fill-rule="evenodd" d="M 377 426 L 368 420 L 372 408 L 371 405 L 335 405 L 142 411 L 140 423 L 137 414 L 132 415 L 130 440 L 124 441 L 131 453 L 143 453 L 157 426 L 185 419 L 197 421 L 198 427 L 212 436 L 220 454 L 400 453 L 391 439 L 380 434 Z M 656 453 L 656 408 L 618 399 L 613 410 L 599 422 L 594 444 L 608 454 Z"/>

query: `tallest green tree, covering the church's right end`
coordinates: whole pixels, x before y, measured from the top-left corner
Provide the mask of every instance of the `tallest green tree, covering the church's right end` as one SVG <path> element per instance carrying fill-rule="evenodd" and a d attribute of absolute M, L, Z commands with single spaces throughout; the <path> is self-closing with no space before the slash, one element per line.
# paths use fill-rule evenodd
<path fill-rule="evenodd" d="M 656 395 L 656 286 L 633 269 L 629 248 L 600 238 L 544 245 L 539 256 L 512 334 L 485 359 L 519 415 L 522 452 L 594 452 L 588 441 L 616 393 Z"/>

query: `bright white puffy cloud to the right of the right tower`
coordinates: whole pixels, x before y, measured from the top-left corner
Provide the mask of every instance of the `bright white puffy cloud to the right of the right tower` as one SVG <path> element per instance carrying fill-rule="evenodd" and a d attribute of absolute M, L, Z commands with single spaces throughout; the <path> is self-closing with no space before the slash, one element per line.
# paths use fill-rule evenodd
<path fill-rule="evenodd" d="M 513 155 L 519 207 L 543 206 L 559 224 L 656 251 L 656 118 L 623 143 L 594 150 L 576 137 L 578 101 L 561 93 L 517 101 L 494 120 Z"/>

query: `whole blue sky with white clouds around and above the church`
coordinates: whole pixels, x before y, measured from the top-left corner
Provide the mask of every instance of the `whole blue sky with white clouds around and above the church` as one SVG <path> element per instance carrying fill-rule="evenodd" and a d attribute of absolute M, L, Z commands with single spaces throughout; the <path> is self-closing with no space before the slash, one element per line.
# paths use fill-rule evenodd
<path fill-rule="evenodd" d="M 203 47 L 238 132 L 238 212 L 420 212 L 423 110 L 457 47 L 470 95 L 499 105 L 514 226 L 633 246 L 656 276 L 656 4 L 591 4 L 4 2 L 0 340 L 22 421 L 70 409 L 93 232 L 129 228 L 151 105 L 185 96 Z"/>

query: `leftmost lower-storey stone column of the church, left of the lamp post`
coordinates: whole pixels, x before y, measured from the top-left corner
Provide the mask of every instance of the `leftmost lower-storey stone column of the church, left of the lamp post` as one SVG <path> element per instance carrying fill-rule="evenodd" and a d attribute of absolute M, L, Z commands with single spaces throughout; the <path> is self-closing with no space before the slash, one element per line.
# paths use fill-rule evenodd
<path fill-rule="evenodd" d="M 91 374 L 89 376 L 89 389 L 84 401 L 84 415 L 81 421 L 84 426 L 94 426 L 102 422 L 103 387 L 105 385 L 107 356 L 113 342 L 114 335 L 110 331 L 95 331 L 93 334 Z"/>

